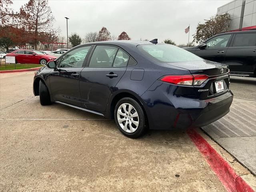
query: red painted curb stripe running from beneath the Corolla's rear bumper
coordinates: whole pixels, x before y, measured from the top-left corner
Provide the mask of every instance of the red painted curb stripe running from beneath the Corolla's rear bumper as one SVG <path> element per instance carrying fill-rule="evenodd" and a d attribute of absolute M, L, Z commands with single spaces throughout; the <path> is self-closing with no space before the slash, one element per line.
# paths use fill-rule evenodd
<path fill-rule="evenodd" d="M 228 192 L 254 192 L 200 134 L 193 129 L 187 134 Z"/>

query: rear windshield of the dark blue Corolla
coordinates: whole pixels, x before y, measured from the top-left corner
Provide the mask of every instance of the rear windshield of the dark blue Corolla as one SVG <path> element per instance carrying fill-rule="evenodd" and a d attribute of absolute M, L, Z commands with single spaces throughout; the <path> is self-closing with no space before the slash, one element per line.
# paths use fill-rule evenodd
<path fill-rule="evenodd" d="M 160 62 L 185 62 L 198 61 L 202 58 L 174 45 L 168 44 L 146 44 L 139 45 L 138 49 L 146 56 Z"/>

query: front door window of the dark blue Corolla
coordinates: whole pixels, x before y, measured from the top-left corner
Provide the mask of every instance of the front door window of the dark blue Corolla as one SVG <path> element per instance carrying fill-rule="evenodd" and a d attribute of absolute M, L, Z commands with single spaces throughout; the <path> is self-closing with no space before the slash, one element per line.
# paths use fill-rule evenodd
<path fill-rule="evenodd" d="M 68 52 L 62 56 L 59 67 L 82 67 L 90 48 L 91 46 L 84 46 Z"/>

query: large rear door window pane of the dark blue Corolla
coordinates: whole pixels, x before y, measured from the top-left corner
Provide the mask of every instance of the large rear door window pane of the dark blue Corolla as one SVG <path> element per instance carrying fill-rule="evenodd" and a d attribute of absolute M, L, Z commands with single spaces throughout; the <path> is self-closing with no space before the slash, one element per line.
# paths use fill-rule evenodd
<path fill-rule="evenodd" d="M 89 67 L 112 67 L 117 50 L 113 46 L 96 46 Z"/>

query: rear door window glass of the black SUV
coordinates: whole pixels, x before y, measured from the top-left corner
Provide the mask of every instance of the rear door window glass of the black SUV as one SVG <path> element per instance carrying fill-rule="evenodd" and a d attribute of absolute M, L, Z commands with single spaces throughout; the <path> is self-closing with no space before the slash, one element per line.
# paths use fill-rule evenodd
<path fill-rule="evenodd" d="M 233 47 L 256 46 L 256 33 L 236 34 Z"/>

